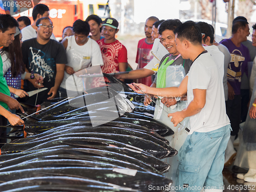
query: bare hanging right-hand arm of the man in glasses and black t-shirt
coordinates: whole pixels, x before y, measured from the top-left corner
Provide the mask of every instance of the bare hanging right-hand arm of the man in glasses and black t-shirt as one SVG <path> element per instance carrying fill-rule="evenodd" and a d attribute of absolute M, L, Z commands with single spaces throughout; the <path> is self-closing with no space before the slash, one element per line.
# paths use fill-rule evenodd
<path fill-rule="evenodd" d="M 64 69 L 65 69 L 65 64 L 56 64 L 56 76 L 55 76 L 54 87 L 52 87 L 48 93 L 48 95 L 52 93 L 52 96 L 48 97 L 47 99 L 53 99 L 56 96 L 59 86 L 64 77 Z"/>

